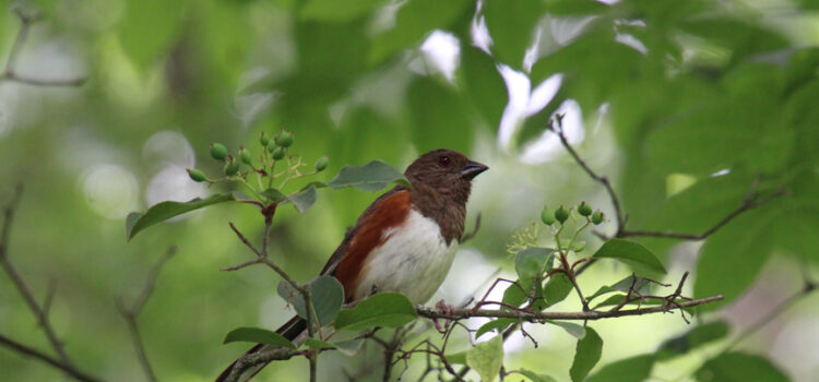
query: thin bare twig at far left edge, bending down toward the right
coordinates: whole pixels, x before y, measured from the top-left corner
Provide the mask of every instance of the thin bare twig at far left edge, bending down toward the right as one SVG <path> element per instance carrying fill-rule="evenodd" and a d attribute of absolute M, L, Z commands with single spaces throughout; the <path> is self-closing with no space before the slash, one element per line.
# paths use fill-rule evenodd
<path fill-rule="evenodd" d="M 32 294 L 28 285 L 26 285 L 25 280 L 9 259 L 9 235 L 11 232 L 11 225 L 14 219 L 14 212 L 20 203 L 22 194 L 23 184 L 17 183 L 14 189 L 14 196 L 12 196 L 11 203 L 9 203 L 9 205 L 7 205 L 5 210 L 3 211 L 4 220 L 2 230 L 0 230 L 0 265 L 2 265 L 5 272 L 9 274 L 9 277 L 11 277 L 11 280 L 20 291 L 20 295 L 23 296 L 26 305 L 34 313 L 34 317 L 37 319 L 39 326 L 43 327 L 43 331 L 46 333 L 46 337 L 48 338 L 48 343 L 51 345 L 51 348 L 54 348 L 55 353 L 57 353 L 63 363 L 73 367 L 71 358 L 63 349 L 62 343 L 57 337 L 54 327 L 51 327 L 51 323 L 48 320 L 48 315 L 46 315 L 46 311 L 40 308 L 39 303 L 37 303 L 37 299 L 34 297 L 34 294 Z"/>

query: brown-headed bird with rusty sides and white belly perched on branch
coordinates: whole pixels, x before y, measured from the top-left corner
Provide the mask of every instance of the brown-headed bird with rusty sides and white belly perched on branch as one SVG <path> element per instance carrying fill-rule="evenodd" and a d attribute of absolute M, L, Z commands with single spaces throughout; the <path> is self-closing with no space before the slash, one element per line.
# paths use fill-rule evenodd
<path fill-rule="evenodd" d="M 376 199 L 320 274 L 342 284 L 347 303 L 381 291 L 404 294 L 413 305 L 427 302 L 449 273 L 463 237 L 472 180 L 487 169 L 451 150 L 419 156 L 404 171 L 410 187 L 396 184 Z M 276 332 L 295 341 L 306 329 L 297 315 Z M 265 346 L 271 345 L 257 345 L 246 355 Z M 225 381 L 237 361 L 216 382 Z M 239 380 L 249 380 L 263 367 L 249 369 Z"/>

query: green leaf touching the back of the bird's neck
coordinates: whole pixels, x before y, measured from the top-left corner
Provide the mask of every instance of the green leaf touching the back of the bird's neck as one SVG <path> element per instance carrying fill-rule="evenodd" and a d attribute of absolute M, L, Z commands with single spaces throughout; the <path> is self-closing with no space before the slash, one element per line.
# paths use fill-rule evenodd
<path fill-rule="evenodd" d="M 327 186 L 334 189 L 355 187 L 367 192 L 381 191 L 388 184 L 395 182 L 410 184 L 395 167 L 382 160 L 372 160 L 364 166 L 344 166 Z"/>

